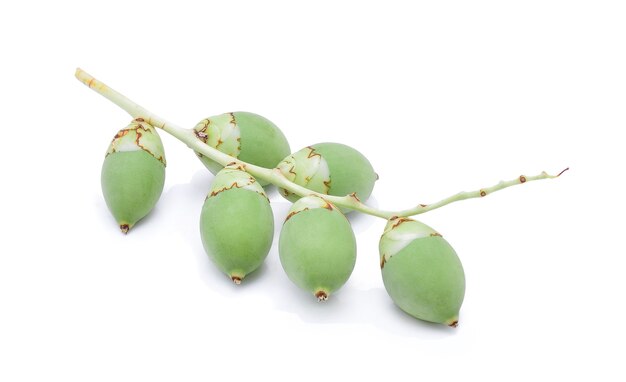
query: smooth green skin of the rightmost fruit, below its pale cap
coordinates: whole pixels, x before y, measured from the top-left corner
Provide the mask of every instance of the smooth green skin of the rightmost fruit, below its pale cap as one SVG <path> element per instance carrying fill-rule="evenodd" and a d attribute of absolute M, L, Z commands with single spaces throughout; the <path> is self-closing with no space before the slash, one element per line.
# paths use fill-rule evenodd
<path fill-rule="evenodd" d="M 389 296 L 411 316 L 445 325 L 458 321 L 465 275 L 444 238 L 413 240 L 385 262 L 382 274 Z"/>

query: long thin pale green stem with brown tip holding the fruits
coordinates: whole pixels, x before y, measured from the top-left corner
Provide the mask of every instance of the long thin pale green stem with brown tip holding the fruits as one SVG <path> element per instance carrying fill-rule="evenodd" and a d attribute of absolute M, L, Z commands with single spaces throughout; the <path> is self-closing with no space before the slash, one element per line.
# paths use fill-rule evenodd
<path fill-rule="evenodd" d="M 419 215 L 424 212 L 432 211 L 439 207 L 443 207 L 447 204 L 464 200 L 470 198 L 480 198 L 486 195 L 491 194 L 492 192 L 502 190 L 507 187 L 515 186 L 517 184 L 522 184 L 526 182 L 530 182 L 533 180 L 540 179 L 552 179 L 561 175 L 567 169 L 561 171 L 558 175 L 548 175 L 545 172 L 542 172 L 539 175 L 535 176 L 519 176 L 516 179 L 509 181 L 502 181 L 494 186 L 483 188 L 477 191 L 469 191 L 469 192 L 460 192 L 458 194 L 447 197 L 443 200 L 440 200 L 436 203 L 432 204 L 418 204 L 417 206 L 410 208 L 408 210 L 403 211 L 383 211 L 378 210 L 376 208 L 370 207 L 364 203 L 361 203 L 354 195 L 346 195 L 346 196 L 332 196 L 326 194 L 320 194 L 318 192 L 309 190 L 308 188 L 297 185 L 291 181 L 289 181 L 278 169 L 269 169 L 264 167 L 259 167 L 250 163 L 243 162 L 235 157 L 231 157 L 230 155 L 224 154 L 223 152 L 205 144 L 200 139 L 198 139 L 195 135 L 193 129 L 184 129 L 182 127 L 177 126 L 176 124 L 167 121 L 164 118 L 157 116 L 151 111 L 143 108 L 139 104 L 133 102 L 128 97 L 123 94 L 117 92 L 116 90 L 110 88 L 104 83 L 98 81 L 96 78 L 88 74 L 87 72 L 81 70 L 80 68 L 76 69 L 76 78 L 87 85 L 89 88 L 94 90 L 96 93 L 102 95 L 104 98 L 113 102 L 123 110 L 125 110 L 128 114 L 130 114 L 133 118 L 140 118 L 149 123 L 152 126 L 156 126 L 160 129 L 163 129 L 167 133 L 171 134 L 181 142 L 185 143 L 190 149 L 199 152 L 206 157 L 214 160 L 215 162 L 221 164 L 222 166 L 226 166 L 230 163 L 237 163 L 242 166 L 248 173 L 250 173 L 255 178 L 262 179 L 266 182 L 272 183 L 278 187 L 284 188 L 294 194 L 299 196 L 306 195 L 318 195 L 323 197 L 327 201 L 341 207 L 349 208 L 352 210 L 360 211 L 369 215 L 378 216 L 383 219 L 390 219 L 394 216 L 413 216 Z"/>

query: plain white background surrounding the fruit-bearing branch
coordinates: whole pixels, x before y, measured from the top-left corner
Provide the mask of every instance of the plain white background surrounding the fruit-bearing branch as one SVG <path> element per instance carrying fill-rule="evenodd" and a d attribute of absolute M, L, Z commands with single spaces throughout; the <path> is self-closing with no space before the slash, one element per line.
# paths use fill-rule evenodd
<path fill-rule="evenodd" d="M 623 2 L 16 4 L 0 5 L 0 380 L 626 378 Z M 166 134 L 161 200 L 122 235 L 100 166 L 130 118 L 77 66 L 182 126 L 246 110 L 294 150 L 348 143 L 385 209 L 571 170 L 420 217 L 464 264 L 458 328 L 393 305 L 369 216 L 351 216 L 352 278 L 318 304 L 275 245 L 241 286 L 215 269 L 212 176 Z"/>

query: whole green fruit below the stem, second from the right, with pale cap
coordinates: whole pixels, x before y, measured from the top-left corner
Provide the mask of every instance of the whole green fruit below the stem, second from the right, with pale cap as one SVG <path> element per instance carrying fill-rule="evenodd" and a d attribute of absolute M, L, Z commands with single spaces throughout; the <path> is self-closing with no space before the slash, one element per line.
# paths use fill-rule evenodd
<path fill-rule="evenodd" d="M 289 210 L 280 231 L 278 252 L 289 279 L 324 301 L 352 274 L 356 239 L 337 207 L 317 196 L 307 196 Z"/>

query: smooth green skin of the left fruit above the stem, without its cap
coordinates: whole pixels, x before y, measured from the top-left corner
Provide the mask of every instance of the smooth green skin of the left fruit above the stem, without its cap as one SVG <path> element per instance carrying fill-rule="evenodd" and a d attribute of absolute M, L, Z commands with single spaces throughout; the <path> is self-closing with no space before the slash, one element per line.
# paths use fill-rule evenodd
<path fill-rule="evenodd" d="M 272 121 L 245 111 L 236 111 L 233 114 L 241 134 L 241 152 L 238 159 L 257 166 L 274 168 L 291 154 L 287 138 Z M 207 157 L 201 157 L 200 160 L 213 174 L 223 168 Z M 257 181 L 262 186 L 268 184 L 261 179 Z"/>

